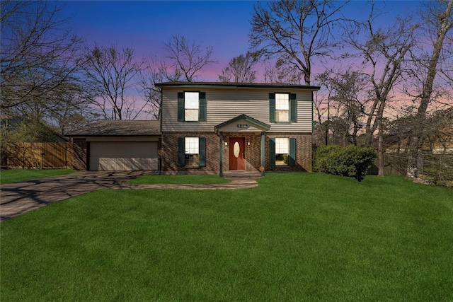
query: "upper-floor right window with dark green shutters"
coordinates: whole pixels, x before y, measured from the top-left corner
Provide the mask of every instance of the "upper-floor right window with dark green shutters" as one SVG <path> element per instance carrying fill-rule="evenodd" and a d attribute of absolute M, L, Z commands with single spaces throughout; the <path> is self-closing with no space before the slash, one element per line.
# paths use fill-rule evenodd
<path fill-rule="evenodd" d="M 295 93 L 269 93 L 270 122 L 297 122 Z"/>

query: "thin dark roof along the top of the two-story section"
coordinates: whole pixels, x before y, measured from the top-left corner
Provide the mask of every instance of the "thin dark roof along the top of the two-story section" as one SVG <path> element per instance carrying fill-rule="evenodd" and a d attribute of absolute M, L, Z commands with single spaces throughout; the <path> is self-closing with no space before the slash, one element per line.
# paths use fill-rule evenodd
<path fill-rule="evenodd" d="M 285 83 L 231 83 L 231 82 L 164 82 L 156 83 L 156 87 L 222 87 L 222 88 L 291 88 L 319 91 L 320 86 L 308 86 Z"/>

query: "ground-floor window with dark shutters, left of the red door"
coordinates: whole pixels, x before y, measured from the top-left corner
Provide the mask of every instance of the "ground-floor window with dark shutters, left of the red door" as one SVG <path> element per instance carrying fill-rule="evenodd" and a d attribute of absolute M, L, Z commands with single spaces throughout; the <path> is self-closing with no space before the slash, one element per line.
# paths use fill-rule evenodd
<path fill-rule="evenodd" d="M 206 139 L 204 137 L 180 137 L 178 139 L 178 165 L 180 167 L 204 167 Z"/>

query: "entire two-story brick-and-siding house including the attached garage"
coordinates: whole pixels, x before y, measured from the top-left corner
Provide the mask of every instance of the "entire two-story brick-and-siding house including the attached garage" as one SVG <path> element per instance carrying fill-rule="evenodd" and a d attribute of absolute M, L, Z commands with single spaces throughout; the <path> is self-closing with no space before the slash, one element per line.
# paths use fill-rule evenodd
<path fill-rule="evenodd" d="M 102 120 L 69 134 L 74 168 L 162 173 L 311 171 L 317 86 L 167 82 L 160 121 Z"/>

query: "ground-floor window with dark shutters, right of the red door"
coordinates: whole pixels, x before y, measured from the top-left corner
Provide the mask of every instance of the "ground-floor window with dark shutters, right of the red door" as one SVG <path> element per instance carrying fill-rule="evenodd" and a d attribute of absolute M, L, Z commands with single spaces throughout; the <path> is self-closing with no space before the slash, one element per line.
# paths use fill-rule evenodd
<path fill-rule="evenodd" d="M 269 154 L 270 165 L 295 165 L 296 139 L 294 137 L 271 137 Z"/>

